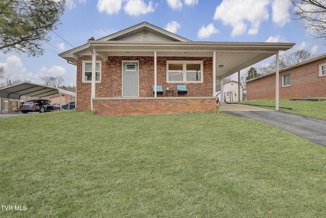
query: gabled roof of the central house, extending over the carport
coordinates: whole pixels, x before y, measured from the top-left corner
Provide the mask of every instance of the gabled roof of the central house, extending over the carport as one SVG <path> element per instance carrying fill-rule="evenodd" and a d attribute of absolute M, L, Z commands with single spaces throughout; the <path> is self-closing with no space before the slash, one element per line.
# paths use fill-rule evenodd
<path fill-rule="evenodd" d="M 135 37 L 149 32 L 155 40 Z M 137 35 L 139 36 L 139 35 Z M 129 38 L 128 38 L 129 37 Z M 128 40 L 125 40 L 128 39 Z M 77 65 L 79 55 L 96 55 L 104 61 L 109 56 L 129 57 L 211 57 L 215 54 L 216 79 L 224 79 L 235 72 L 269 58 L 279 51 L 291 49 L 295 43 L 274 42 L 194 42 L 169 31 L 143 22 L 98 40 L 59 54 L 68 63 Z M 222 66 L 222 67 L 219 67 Z"/>

